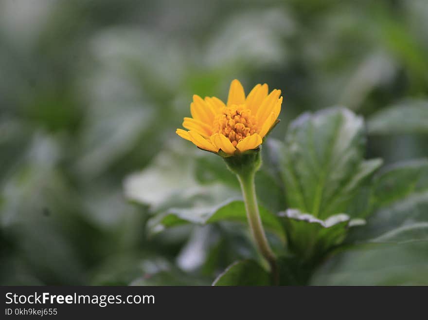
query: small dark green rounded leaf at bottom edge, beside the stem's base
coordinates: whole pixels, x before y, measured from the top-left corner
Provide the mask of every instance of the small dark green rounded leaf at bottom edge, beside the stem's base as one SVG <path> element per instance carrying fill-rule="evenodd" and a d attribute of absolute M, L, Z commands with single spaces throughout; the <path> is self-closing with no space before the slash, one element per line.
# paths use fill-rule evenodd
<path fill-rule="evenodd" d="M 217 279 L 213 285 L 270 285 L 270 275 L 265 269 L 253 260 L 236 261 L 231 264 Z"/>

